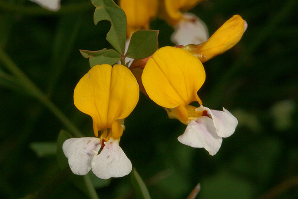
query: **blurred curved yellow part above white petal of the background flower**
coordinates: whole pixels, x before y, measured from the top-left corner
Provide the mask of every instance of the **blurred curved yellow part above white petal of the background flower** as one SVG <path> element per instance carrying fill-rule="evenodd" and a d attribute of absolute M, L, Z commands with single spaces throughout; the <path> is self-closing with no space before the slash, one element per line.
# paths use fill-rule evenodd
<path fill-rule="evenodd" d="M 203 0 L 160 0 L 160 18 L 166 20 L 169 25 L 175 25 L 183 18 L 180 10 L 187 12 L 201 1 Z"/>

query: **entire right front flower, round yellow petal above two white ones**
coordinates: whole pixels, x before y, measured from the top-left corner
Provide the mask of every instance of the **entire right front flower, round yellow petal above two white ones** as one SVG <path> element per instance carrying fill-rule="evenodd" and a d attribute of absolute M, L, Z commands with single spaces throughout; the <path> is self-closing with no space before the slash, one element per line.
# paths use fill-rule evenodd
<path fill-rule="evenodd" d="M 142 73 L 142 83 L 149 98 L 164 107 L 169 118 L 179 119 L 187 125 L 178 140 L 191 147 L 203 147 L 210 155 L 215 155 L 222 137 L 232 135 L 238 121 L 226 109 L 217 111 L 202 106 L 197 92 L 204 81 L 201 61 L 186 50 L 169 46 L 157 50 Z M 193 101 L 200 106 L 189 105 Z"/>

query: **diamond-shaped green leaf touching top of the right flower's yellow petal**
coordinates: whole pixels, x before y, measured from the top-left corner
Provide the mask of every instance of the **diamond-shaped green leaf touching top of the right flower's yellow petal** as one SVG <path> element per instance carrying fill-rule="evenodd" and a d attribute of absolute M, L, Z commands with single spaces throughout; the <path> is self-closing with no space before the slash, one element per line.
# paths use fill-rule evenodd
<path fill-rule="evenodd" d="M 132 35 L 126 56 L 143 59 L 152 55 L 158 48 L 158 30 L 139 30 Z"/>

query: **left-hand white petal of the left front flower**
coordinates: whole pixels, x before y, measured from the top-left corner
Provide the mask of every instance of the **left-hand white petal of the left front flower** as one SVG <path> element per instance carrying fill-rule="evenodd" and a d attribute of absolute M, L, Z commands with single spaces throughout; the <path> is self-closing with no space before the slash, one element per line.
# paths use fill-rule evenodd
<path fill-rule="evenodd" d="M 98 152 L 100 147 L 101 140 L 96 137 L 71 138 L 62 145 L 70 168 L 77 175 L 86 175 L 90 171 L 94 151 Z"/>

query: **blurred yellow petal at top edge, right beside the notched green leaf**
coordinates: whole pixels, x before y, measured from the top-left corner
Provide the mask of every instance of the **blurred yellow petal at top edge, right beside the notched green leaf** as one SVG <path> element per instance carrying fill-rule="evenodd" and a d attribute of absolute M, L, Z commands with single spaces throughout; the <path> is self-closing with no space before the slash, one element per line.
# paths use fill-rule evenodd
<path fill-rule="evenodd" d="M 157 0 L 120 0 L 127 19 L 127 36 L 141 29 L 149 29 L 150 19 L 157 13 Z"/>

